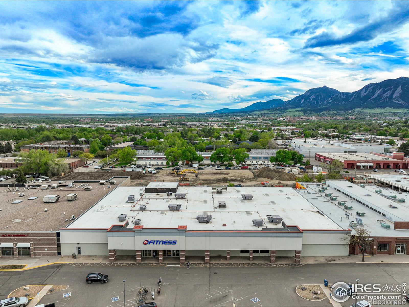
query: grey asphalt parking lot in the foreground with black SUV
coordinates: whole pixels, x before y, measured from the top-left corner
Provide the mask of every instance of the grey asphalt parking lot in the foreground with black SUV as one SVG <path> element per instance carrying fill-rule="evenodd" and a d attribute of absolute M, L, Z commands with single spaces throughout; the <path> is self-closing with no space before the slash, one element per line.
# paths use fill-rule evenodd
<path fill-rule="evenodd" d="M 95 265 L 95 264 L 93 264 Z M 62 292 L 47 294 L 40 303 L 56 306 L 126 306 L 135 304 L 139 285 L 155 291 L 159 306 L 332 306 L 328 299 L 309 301 L 295 293 L 299 284 L 330 284 L 338 281 L 379 284 L 407 282 L 407 264 L 305 264 L 299 267 L 123 267 L 60 264 L 22 272 L 0 272 L 0 299 L 26 284 L 68 284 Z M 108 274 L 106 284 L 87 284 L 91 272 Z M 161 295 L 157 280 L 162 278 Z M 71 296 L 63 298 L 63 293 Z M 116 298 L 118 297 L 118 298 Z M 115 298 L 112 301 L 112 298 Z M 257 300 L 252 300 L 257 298 Z M 117 301 L 115 301 L 117 300 Z M 146 299 L 151 302 L 151 299 Z M 254 302 L 256 301 L 256 302 Z M 352 298 L 341 303 L 351 306 Z M 136 304 L 135 304 L 136 306 Z"/>

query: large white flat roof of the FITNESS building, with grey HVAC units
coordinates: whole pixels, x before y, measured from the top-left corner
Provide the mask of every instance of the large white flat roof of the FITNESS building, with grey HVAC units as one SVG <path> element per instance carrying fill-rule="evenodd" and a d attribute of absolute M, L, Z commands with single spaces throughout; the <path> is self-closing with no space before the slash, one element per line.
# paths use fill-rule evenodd
<path fill-rule="evenodd" d="M 155 183 L 166 184 L 166 183 Z M 172 183 L 173 184 L 173 183 Z M 141 190 L 142 189 L 142 190 Z M 303 199 L 290 187 L 227 187 L 222 194 L 211 187 L 179 187 L 185 199 L 166 196 L 166 193 L 144 193 L 141 187 L 117 187 L 67 228 L 110 228 L 118 222 L 119 214 L 128 214 L 129 227 L 141 219 L 145 228 L 177 228 L 188 230 L 260 230 L 281 228 L 269 223 L 266 215 L 279 215 L 288 226 L 304 230 L 341 230 L 330 218 Z M 241 194 L 252 194 L 252 200 L 243 200 Z M 135 203 L 126 203 L 128 195 L 135 195 Z M 218 208 L 225 201 L 226 208 Z M 168 205 L 181 204 L 180 211 L 170 211 Z M 139 206 L 146 205 L 140 211 Z M 211 223 L 199 223 L 199 214 L 211 214 Z M 253 226 L 253 219 L 263 219 L 263 226 Z M 223 225 L 225 224 L 225 226 Z"/>

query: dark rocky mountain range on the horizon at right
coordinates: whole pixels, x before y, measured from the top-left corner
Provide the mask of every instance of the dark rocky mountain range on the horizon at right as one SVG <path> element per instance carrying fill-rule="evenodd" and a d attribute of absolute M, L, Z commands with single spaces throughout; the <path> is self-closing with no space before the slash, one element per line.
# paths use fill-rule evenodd
<path fill-rule="evenodd" d="M 319 112 L 385 107 L 409 109 L 409 78 L 400 77 L 370 83 L 352 93 L 340 92 L 327 86 L 311 88 L 304 94 L 287 101 L 281 99 L 272 99 L 266 102 L 259 101 L 245 108 L 222 108 L 212 113 L 233 113 L 275 108 L 302 108 Z"/>

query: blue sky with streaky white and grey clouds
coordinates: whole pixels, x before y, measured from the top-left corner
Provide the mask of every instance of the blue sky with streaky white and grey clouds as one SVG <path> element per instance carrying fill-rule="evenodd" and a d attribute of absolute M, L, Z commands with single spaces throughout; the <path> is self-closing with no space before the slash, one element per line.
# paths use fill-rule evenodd
<path fill-rule="evenodd" d="M 409 77 L 405 1 L 1 1 L 0 113 L 186 113 Z"/>

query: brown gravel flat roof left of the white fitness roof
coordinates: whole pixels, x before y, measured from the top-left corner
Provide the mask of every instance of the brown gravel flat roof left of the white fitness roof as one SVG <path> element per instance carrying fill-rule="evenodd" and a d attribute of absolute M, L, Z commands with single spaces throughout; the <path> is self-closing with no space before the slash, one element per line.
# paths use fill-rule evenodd
<path fill-rule="evenodd" d="M 83 189 L 62 187 L 57 189 L 48 188 L 47 190 L 15 188 L 10 190 L 2 187 L 0 190 L 0 231 L 56 231 L 64 228 L 70 223 L 70 217 L 74 215 L 79 217 L 85 210 L 97 203 L 106 194 L 124 181 L 124 178 L 115 178 L 116 185 L 107 189 L 107 185 L 98 183 L 89 183 L 92 186 L 91 191 Z M 81 183 L 76 183 L 79 186 Z M 15 194 L 13 194 L 13 191 Z M 19 193 L 25 195 L 19 197 Z M 67 201 L 67 195 L 75 193 L 78 198 L 75 201 Z M 44 203 L 45 195 L 60 195 L 56 203 Z M 38 197 L 31 199 L 30 197 Z M 20 203 L 13 201 L 22 200 Z M 44 209 L 47 208 L 47 212 Z M 65 214 L 65 215 L 64 215 Z M 65 219 L 68 219 L 66 222 Z"/>

